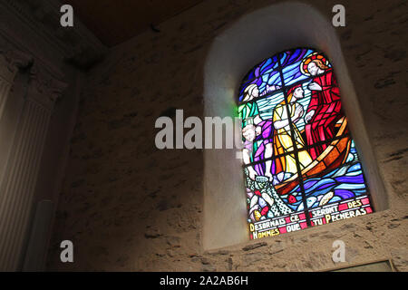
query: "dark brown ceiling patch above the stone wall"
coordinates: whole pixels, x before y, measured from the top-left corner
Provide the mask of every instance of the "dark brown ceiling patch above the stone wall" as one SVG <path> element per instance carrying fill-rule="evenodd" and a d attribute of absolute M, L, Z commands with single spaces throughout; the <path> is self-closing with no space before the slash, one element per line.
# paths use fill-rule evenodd
<path fill-rule="evenodd" d="M 76 17 L 81 18 L 96 37 L 108 47 L 124 43 L 152 30 L 164 31 L 161 24 L 182 14 L 203 0 L 61 0 L 73 6 Z"/>

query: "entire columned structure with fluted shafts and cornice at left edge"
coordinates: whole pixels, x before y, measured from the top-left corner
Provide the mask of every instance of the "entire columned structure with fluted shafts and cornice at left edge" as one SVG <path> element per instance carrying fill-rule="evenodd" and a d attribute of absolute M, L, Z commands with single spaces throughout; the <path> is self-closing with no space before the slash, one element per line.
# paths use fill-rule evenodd
<path fill-rule="evenodd" d="M 74 29 L 61 27 L 61 5 L 59 0 L 0 0 L 0 271 L 22 266 L 44 141 L 67 63 L 88 69 L 108 52 L 78 19 Z M 29 87 L 21 75 L 16 98 L 7 100 L 18 68 L 31 66 Z M 66 82 L 74 79 L 71 75 Z"/>

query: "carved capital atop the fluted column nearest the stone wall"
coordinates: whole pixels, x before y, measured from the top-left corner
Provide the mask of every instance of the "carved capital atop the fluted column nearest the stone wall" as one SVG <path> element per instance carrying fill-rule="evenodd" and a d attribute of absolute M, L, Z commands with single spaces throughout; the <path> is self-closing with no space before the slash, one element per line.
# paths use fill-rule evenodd
<path fill-rule="evenodd" d="M 68 84 L 34 63 L 30 70 L 30 85 L 27 98 L 52 111 Z"/>

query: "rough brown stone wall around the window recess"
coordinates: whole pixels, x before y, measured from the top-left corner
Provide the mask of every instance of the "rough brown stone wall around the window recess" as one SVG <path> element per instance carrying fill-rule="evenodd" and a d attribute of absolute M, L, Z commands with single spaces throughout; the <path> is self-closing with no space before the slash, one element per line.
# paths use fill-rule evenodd
<path fill-rule="evenodd" d="M 306 2 L 327 17 L 337 4 Z M 273 3 L 206 1 L 160 24 L 160 33 L 149 31 L 115 47 L 89 73 L 49 270 L 316 271 L 339 266 L 331 260 L 335 239 L 345 241 L 344 265 L 391 257 L 397 270 L 408 270 L 407 4 L 401 0 L 342 1 L 347 23 L 337 29 L 390 208 L 202 250 L 203 152 L 157 150 L 154 123 L 162 115 L 174 119 L 176 108 L 185 117 L 202 117 L 202 73 L 211 41 L 239 16 Z M 72 264 L 59 260 L 63 239 L 73 241 Z"/>

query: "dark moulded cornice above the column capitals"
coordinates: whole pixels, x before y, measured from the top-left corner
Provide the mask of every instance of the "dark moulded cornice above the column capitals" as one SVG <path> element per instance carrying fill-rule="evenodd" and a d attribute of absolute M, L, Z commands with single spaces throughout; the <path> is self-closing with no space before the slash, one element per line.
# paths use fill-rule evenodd
<path fill-rule="evenodd" d="M 73 27 L 62 27 L 61 5 L 57 0 L 2 0 L 0 17 L 5 17 L 5 25 L 0 27 L 0 34 L 7 39 L 19 38 L 15 40 L 19 43 L 24 43 L 25 36 L 29 35 L 30 39 L 44 43 L 42 46 L 46 50 L 52 50 L 52 54 L 60 56 L 63 61 L 86 68 L 102 58 L 107 48 L 78 18 L 74 19 Z M 7 21 L 17 21 L 24 27 L 7 26 Z"/>

